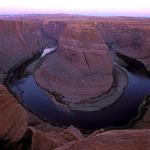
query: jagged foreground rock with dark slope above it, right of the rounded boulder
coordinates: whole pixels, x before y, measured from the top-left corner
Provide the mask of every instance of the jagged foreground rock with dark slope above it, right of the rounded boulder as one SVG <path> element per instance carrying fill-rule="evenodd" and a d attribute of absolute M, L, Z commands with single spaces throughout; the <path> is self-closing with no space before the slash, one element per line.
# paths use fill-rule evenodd
<path fill-rule="evenodd" d="M 66 143 L 81 140 L 83 134 L 75 127 L 70 126 L 67 129 L 52 126 L 38 117 L 28 112 L 28 125 L 31 138 L 31 149 L 54 149 L 65 145 Z"/>

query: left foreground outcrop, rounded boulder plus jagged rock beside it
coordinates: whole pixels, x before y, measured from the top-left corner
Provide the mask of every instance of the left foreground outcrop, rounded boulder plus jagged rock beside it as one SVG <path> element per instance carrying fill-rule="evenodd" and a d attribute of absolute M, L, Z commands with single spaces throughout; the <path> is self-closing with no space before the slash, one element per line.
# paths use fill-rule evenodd
<path fill-rule="evenodd" d="M 67 129 L 53 127 L 31 115 L 0 85 L 0 149 L 49 150 L 83 137 L 72 126 Z"/>

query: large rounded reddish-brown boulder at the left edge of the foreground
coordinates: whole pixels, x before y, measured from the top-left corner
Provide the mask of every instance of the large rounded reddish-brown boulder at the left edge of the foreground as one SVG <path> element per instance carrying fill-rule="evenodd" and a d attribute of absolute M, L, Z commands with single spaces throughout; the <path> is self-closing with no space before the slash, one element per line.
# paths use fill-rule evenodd
<path fill-rule="evenodd" d="M 25 110 L 7 89 L 0 85 L 0 139 L 17 142 L 23 137 L 26 129 L 27 115 Z"/>

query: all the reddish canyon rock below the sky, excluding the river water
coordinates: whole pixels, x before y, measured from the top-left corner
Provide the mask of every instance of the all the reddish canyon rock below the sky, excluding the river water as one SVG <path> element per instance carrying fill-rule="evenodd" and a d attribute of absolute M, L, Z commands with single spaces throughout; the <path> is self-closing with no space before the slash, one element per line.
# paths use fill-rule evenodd
<path fill-rule="evenodd" d="M 128 127 L 81 132 L 72 125 L 49 124 L 23 106 L 9 87 L 15 72 L 24 72 L 22 64 L 37 57 L 27 73 L 56 106 L 92 112 L 113 105 L 128 84 L 118 63 L 130 67 L 132 58 L 150 73 L 149 18 L 0 16 L 0 52 L 0 149 L 150 149 L 149 93 L 140 117 Z"/>

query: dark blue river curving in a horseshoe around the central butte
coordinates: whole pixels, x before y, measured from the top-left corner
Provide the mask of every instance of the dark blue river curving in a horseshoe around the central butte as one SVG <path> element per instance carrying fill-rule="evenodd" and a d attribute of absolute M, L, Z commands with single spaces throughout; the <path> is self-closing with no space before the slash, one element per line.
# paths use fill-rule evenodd
<path fill-rule="evenodd" d="M 128 85 L 115 103 L 99 111 L 70 111 L 56 105 L 36 83 L 33 72 L 27 70 L 34 63 L 25 67 L 25 75 L 22 77 L 16 71 L 9 79 L 9 87 L 24 106 L 54 125 L 74 125 L 82 129 L 124 126 L 138 115 L 144 96 L 150 93 L 150 78 L 143 69 L 122 67 L 128 76 Z"/>

